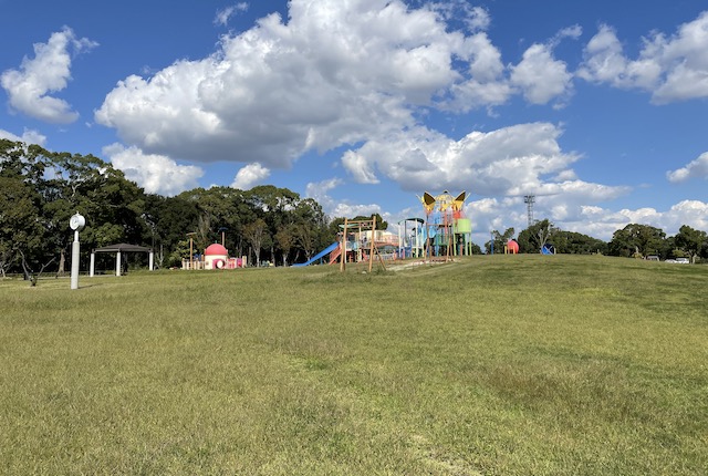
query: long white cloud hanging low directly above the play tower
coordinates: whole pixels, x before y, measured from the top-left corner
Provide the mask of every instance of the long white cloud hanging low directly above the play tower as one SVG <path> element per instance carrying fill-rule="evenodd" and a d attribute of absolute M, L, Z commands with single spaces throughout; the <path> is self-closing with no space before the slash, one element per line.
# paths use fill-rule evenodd
<path fill-rule="evenodd" d="M 374 170 L 405 190 L 468 189 L 487 196 L 537 194 L 585 195 L 600 200 L 627 193 L 623 187 L 586 184 L 572 164 L 581 157 L 558 143 L 562 130 L 549 123 L 518 124 L 459 141 L 417 127 L 369 141 L 342 157 L 358 183 L 376 183 Z"/>

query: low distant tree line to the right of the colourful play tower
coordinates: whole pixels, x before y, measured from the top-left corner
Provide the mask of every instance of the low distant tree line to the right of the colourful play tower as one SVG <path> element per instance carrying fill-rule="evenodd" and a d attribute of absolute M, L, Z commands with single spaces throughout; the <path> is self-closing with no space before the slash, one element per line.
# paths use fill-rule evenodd
<path fill-rule="evenodd" d="M 503 252 L 504 245 L 516 235 L 513 228 L 503 232 L 493 230 L 485 248 L 487 252 Z M 648 225 L 629 224 L 616 230 L 608 242 L 574 231 L 556 228 L 550 220 L 537 221 L 519 232 L 516 239 L 520 252 L 538 253 L 545 245 L 552 245 L 555 252 L 590 255 L 601 253 L 626 258 L 657 257 L 660 260 L 688 258 L 691 262 L 708 260 L 708 234 L 687 225 L 675 236 L 666 236 L 659 228 Z"/>

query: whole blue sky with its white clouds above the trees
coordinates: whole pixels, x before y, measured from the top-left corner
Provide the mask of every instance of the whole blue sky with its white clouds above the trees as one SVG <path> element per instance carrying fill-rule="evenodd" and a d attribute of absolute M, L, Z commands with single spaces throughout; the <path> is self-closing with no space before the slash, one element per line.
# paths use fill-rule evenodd
<path fill-rule="evenodd" d="M 687 0 L 0 0 L 0 136 L 148 193 L 272 184 L 331 216 L 468 193 L 535 219 L 708 230 L 708 6 Z M 705 9 L 705 10 L 704 10 Z"/>

